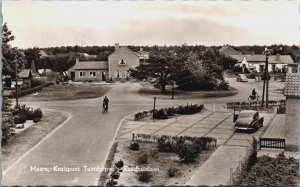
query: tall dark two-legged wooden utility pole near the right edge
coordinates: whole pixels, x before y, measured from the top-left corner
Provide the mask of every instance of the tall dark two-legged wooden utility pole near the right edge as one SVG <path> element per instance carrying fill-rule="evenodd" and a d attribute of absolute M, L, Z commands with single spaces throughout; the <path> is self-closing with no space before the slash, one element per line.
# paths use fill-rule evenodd
<path fill-rule="evenodd" d="M 265 62 L 265 71 L 264 71 L 264 82 L 263 82 L 263 95 L 262 95 L 262 103 L 261 106 L 264 106 L 264 98 L 266 95 L 266 107 L 269 106 L 269 56 L 270 51 L 268 48 L 265 48 L 266 62 Z"/>

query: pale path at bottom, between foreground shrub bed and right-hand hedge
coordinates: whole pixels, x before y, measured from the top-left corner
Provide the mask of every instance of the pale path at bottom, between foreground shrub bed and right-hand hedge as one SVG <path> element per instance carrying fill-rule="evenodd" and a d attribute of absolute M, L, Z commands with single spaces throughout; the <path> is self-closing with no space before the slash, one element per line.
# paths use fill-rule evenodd
<path fill-rule="evenodd" d="M 241 158 L 246 154 L 246 149 L 239 146 L 220 146 L 185 185 L 227 185 L 230 180 L 230 168 L 236 170 Z"/>

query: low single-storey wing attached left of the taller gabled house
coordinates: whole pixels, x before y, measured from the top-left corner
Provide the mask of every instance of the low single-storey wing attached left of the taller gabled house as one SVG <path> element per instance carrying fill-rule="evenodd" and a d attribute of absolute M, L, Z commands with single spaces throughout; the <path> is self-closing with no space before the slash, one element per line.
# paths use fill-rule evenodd
<path fill-rule="evenodd" d="M 73 81 L 105 81 L 108 74 L 107 61 L 82 61 L 76 59 L 76 64 L 68 70 L 68 76 Z"/>

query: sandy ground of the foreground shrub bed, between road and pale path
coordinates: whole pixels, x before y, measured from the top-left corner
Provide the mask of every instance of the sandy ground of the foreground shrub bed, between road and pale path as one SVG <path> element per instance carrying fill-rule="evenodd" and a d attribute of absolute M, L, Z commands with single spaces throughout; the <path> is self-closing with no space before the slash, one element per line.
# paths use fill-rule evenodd
<path fill-rule="evenodd" d="M 210 157 L 216 149 L 203 150 L 196 158 L 195 162 L 184 163 L 179 160 L 176 153 L 157 152 L 157 143 L 139 142 L 140 150 L 132 151 L 129 149 L 130 141 L 118 142 L 117 151 L 113 163 L 122 159 L 124 166 L 128 168 L 158 168 L 159 171 L 151 171 L 153 177 L 149 182 L 141 182 L 137 178 L 135 171 L 124 171 L 120 173 L 117 180 L 118 185 L 124 186 L 151 186 L 151 185 L 184 185 L 193 173 Z M 156 154 L 154 154 L 156 153 Z M 149 155 L 148 164 L 138 164 L 137 160 L 143 154 Z M 178 169 L 174 177 L 169 177 L 167 170 L 170 168 Z"/>

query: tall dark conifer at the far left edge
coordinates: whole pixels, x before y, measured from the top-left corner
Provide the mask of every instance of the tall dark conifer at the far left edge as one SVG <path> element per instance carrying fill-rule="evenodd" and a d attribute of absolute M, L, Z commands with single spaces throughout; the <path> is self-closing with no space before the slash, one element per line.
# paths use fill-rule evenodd
<path fill-rule="evenodd" d="M 18 70 L 20 70 L 25 62 L 24 54 L 18 48 L 9 44 L 14 38 L 7 27 L 7 23 L 4 23 L 2 26 L 2 74 L 12 77 L 15 77 L 15 64 L 18 65 Z"/>

